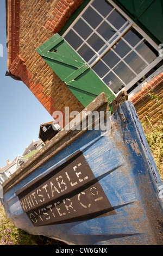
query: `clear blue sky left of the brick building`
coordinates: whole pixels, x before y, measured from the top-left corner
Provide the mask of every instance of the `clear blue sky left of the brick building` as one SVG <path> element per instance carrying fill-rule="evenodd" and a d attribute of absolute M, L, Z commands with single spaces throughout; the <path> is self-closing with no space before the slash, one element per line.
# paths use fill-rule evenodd
<path fill-rule="evenodd" d="M 53 118 L 22 81 L 5 76 L 7 68 L 7 45 L 5 23 L 5 0 L 0 2 L 0 168 L 22 155 L 25 148 L 39 138 L 40 124 Z"/>

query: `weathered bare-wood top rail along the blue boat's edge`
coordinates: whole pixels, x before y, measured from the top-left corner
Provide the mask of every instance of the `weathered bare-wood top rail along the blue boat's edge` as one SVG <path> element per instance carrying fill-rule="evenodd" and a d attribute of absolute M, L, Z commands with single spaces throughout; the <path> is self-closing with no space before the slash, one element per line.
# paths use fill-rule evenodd
<path fill-rule="evenodd" d="M 106 99 L 105 93 L 101 93 L 96 97 L 83 111 L 109 111 L 109 103 Z M 80 113 L 80 125 L 82 126 L 82 112 Z M 23 164 L 22 167 L 18 168 L 15 173 L 11 174 L 7 180 L 2 184 L 3 193 L 9 191 L 18 182 L 26 178 L 29 174 L 33 173 L 34 170 L 41 167 L 42 164 L 52 159 L 61 150 L 66 148 L 69 144 L 75 141 L 77 138 L 82 136 L 86 130 L 65 130 L 62 129 L 57 135 L 55 135 L 51 141 L 49 141 L 42 149 L 40 149 L 35 155 Z"/>

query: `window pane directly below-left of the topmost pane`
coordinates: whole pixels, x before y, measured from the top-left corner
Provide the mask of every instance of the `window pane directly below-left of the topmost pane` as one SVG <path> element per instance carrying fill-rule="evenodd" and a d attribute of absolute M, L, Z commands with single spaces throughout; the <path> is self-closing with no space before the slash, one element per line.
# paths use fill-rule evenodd
<path fill-rule="evenodd" d="M 91 7 L 87 8 L 82 17 L 92 26 L 92 28 L 96 28 L 103 20 Z"/>

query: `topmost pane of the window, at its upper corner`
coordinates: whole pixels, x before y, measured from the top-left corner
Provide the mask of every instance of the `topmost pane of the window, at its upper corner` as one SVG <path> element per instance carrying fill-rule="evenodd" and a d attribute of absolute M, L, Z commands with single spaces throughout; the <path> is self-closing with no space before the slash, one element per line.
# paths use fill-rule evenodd
<path fill-rule="evenodd" d="M 96 10 L 98 10 L 104 17 L 106 17 L 113 9 L 105 0 L 95 0 L 93 1 L 92 6 L 95 7 Z"/>

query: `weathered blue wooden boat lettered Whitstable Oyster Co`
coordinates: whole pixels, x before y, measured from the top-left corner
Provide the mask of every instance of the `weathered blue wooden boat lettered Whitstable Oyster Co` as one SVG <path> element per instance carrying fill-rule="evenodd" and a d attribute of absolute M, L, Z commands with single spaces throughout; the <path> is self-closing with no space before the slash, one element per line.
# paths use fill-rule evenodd
<path fill-rule="evenodd" d="M 102 93 L 84 111 L 108 107 Z M 125 93 L 107 120 L 105 131 L 96 120 L 62 129 L 4 181 L 1 202 L 17 228 L 67 245 L 162 245 L 162 181 Z"/>

